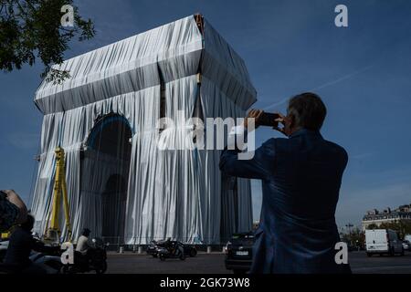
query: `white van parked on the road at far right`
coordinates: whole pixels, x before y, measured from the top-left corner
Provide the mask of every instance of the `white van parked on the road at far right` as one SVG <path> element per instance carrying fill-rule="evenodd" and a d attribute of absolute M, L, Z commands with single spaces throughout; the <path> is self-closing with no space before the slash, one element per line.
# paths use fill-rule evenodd
<path fill-rule="evenodd" d="M 365 244 L 368 256 L 374 254 L 404 255 L 403 243 L 398 239 L 394 230 L 365 230 Z"/>

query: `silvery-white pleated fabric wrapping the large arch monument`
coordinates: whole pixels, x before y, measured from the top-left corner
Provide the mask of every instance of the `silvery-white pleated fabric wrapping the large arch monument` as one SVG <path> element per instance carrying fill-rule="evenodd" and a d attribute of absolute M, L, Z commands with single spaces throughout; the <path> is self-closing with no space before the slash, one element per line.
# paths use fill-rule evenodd
<path fill-rule="evenodd" d="M 50 212 L 58 145 L 66 151 L 75 239 L 83 227 L 104 234 L 101 193 L 113 174 L 126 179 L 127 196 L 124 210 L 111 214 L 112 224 L 121 229 L 111 241 L 143 245 L 171 237 L 219 244 L 232 232 L 251 228 L 249 181 L 237 179 L 235 195 L 227 190 L 218 169 L 221 151 L 157 147 L 187 143 L 184 123 L 195 112 L 203 118 L 244 117 L 256 100 L 243 60 L 207 22 L 204 36 L 194 16 L 188 16 L 69 59 L 59 68 L 69 70 L 71 77 L 62 84 L 44 81 L 35 98 L 45 114 L 32 204 L 38 232 L 44 232 Z M 174 127 L 160 136 L 155 125 L 161 80 L 165 116 L 174 120 Z M 132 131 L 130 162 L 121 167 L 104 153 L 84 151 L 96 120 L 109 114 L 125 118 Z M 121 216 L 123 224 L 118 222 Z M 62 226 L 63 219 L 61 214 Z"/>

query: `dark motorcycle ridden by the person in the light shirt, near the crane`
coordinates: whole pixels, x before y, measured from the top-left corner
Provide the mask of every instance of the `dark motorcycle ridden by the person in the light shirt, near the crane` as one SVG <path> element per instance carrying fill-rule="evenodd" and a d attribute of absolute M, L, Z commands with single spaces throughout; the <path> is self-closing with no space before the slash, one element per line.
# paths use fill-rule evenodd
<path fill-rule="evenodd" d="M 74 264 L 63 265 L 62 273 L 77 274 L 95 271 L 96 274 L 104 274 L 107 270 L 107 252 L 109 244 L 104 245 L 100 238 L 93 238 L 86 255 L 75 251 Z"/>

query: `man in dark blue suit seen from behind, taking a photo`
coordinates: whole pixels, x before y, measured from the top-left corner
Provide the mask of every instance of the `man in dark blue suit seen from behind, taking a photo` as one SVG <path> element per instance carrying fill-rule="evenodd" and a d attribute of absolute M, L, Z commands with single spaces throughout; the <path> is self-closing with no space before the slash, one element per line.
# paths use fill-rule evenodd
<path fill-rule="evenodd" d="M 248 113 L 256 128 L 261 115 L 261 110 Z M 221 154 L 222 172 L 262 180 L 251 273 L 351 272 L 348 264 L 335 261 L 340 236 L 334 214 L 348 155 L 321 137 L 325 116 L 320 97 L 302 93 L 290 99 L 287 117 L 279 115 L 274 123 L 288 138 L 269 139 L 251 160 L 238 160 L 238 151 Z M 248 119 L 243 134 L 247 127 Z"/>

